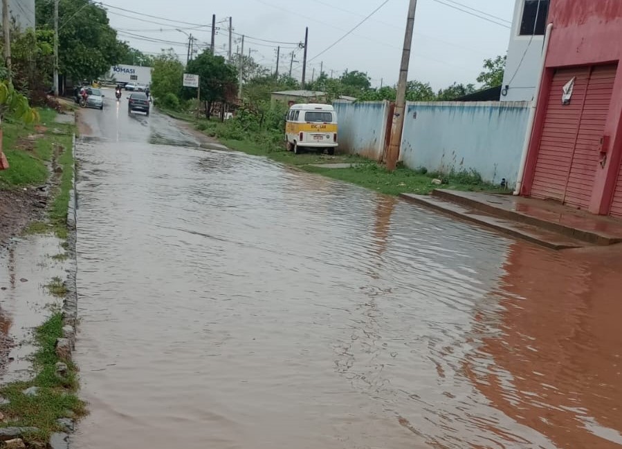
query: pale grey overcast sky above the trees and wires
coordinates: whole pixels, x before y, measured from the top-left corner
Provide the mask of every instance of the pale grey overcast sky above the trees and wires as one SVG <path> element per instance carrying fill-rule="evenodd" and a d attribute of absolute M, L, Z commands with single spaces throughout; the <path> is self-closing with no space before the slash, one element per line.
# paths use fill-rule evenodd
<path fill-rule="evenodd" d="M 299 79 L 302 74 L 302 50 L 292 44 L 304 40 L 304 27 L 308 26 L 311 59 L 308 78 L 311 78 L 313 68 L 316 75 L 319 73 L 323 61 L 324 71 L 329 75 L 331 71 L 338 75 L 346 69 L 360 70 L 367 72 L 374 86 L 380 85 L 381 80 L 385 85 L 396 82 L 408 10 L 408 0 L 388 0 L 340 43 L 315 57 L 385 0 L 103 1 L 105 7 L 110 6 L 107 7 L 109 18 L 112 26 L 120 31 L 120 39 L 150 53 L 173 46 L 184 62 L 187 52 L 184 32 L 192 33 L 198 39 L 199 46 L 208 44 L 210 28 L 196 25 L 210 25 L 212 14 L 219 22 L 217 52 L 226 54 L 228 17 L 232 17 L 235 32 L 249 37 L 244 45 L 246 54 L 250 48 L 255 60 L 267 68 L 275 68 L 277 44 L 266 41 L 285 43 L 281 49 L 281 73 L 289 71 L 291 51 L 295 50 L 295 60 L 300 62 L 293 64 L 293 76 Z M 442 88 L 452 82 L 475 82 L 482 61 L 503 55 L 507 50 L 510 30 L 506 27 L 509 27 L 507 21 L 512 20 L 514 3 L 515 0 L 419 0 L 409 79 L 430 82 L 434 88 Z M 128 11 L 142 12 L 142 15 Z M 500 22 L 503 19 L 501 23 L 505 26 L 474 17 L 465 11 L 480 16 L 484 12 L 490 15 L 484 16 L 487 19 L 498 17 L 491 20 Z M 234 35 L 234 52 L 239 35 Z"/>

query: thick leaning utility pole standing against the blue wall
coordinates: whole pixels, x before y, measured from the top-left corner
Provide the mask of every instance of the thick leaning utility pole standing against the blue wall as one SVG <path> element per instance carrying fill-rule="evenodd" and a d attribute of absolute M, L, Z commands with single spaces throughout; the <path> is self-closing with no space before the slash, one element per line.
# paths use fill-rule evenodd
<path fill-rule="evenodd" d="M 399 68 L 399 81 L 397 84 L 397 94 L 395 99 L 395 112 L 393 114 L 393 125 L 391 128 L 391 140 L 387 151 L 387 170 L 395 170 L 399 159 L 399 150 L 402 140 L 402 129 L 404 126 L 404 114 L 406 111 L 406 85 L 408 84 L 408 64 L 410 62 L 410 50 L 412 47 L 412 30 L 414 28 L 414 14 L 417 11 L 417 0 L 410 0 L 408 6 L 408 19 L 406 21 L 406 32 L 404 35 L 404 48 L 402 50 L 402 62 Z"/>

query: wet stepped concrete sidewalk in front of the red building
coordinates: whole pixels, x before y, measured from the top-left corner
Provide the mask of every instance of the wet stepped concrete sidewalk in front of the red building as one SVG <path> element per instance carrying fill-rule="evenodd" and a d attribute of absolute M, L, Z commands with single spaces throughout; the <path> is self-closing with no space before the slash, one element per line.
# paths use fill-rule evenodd
<path fill-rule="evenodd" d="M 545 200 L 437 189 L 402 198 L 552 249 L 622 242 L 622 221 Z"/>

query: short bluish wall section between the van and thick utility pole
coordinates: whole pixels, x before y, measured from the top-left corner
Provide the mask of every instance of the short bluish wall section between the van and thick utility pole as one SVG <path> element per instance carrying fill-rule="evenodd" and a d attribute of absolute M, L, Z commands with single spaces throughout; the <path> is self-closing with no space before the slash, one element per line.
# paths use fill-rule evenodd
<path fill-rule="evenodd" d="M 381 160 L 389 102 L 333 102 L 339 122 L 339 149 Z"/>

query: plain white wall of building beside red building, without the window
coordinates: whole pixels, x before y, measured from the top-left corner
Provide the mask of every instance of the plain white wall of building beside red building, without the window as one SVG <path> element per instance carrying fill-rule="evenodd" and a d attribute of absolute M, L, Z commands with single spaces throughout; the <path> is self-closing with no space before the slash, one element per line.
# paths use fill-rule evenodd
<path fill-rule="evenodd" d="M 516 0 L 500 98 L 502 102 L 530 101 L 538 82 L 545 37 L 520 35 L 524 1 Z M 509 86 L 507 90 L 506 86 Z"/>

